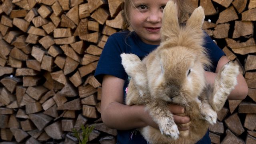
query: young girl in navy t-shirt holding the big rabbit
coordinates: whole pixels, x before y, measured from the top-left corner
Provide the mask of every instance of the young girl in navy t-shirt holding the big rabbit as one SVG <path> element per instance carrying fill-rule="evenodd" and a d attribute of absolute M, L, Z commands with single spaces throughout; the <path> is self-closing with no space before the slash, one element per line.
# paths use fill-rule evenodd
<path fill-rule="evenodd" d="M 185 1 L 176 0 L 180 10 L 180 21 L 186 20 L 189 3 Z M 121 64 L 120 54 L 132 53 L 142 59 L 160 44 L 162 12 L 167 2 L 168 0 L 125 0 L 124 18 L 134 31 L 118 32 L 110 36 L 100 56 L 95 77 L 102 82 L 101 116 L 106 126 L 118 130 L 118 144 L 146 144 L 146 140 L 136 128 L 148 125 L 158 128 L 144 106 L 125 105 L 129 76 Z M 209 36 L 205 38 L 204 47 L 208 49 L 214 65 L 210 72 L 205 72 L 207 82 L 212 84 L 216 72 L 229 60 Z M 238 84 L 229 99 L 242 100 L 247 96 L 248 87 L 241 74 L 237 81 Z M 174 114 L 176 124 L 190 122 L 188 116 L 178 116 L 184 113 L 183 107 L 170 104 L 169 110 Z M 189 127 L 179 128 L 188 129 Z M 208 132 L 198 142 L 200 143 L 211 143 Z"/>

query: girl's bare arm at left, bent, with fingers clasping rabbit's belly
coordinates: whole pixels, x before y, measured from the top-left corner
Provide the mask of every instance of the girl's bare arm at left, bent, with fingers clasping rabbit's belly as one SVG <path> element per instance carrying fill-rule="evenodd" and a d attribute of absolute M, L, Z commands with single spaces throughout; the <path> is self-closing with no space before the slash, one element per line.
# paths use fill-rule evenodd
<path fill-rule="evenodd" d="M 128 106 L 123 100 L 124 80 L 105 75 L 102 82 L 101 117 L 106 126 L 118 130 L 130 130 L 144 126 L 158 128 L 144 106 Z M 170 111 L 174 114 L 184 113 L 181 106 L 170 105 Z M 190 121 L 188 116 L 174 115 L 177 124 L 186 124 Z M 188 130 L 188 127 L 180 128 Z"/>

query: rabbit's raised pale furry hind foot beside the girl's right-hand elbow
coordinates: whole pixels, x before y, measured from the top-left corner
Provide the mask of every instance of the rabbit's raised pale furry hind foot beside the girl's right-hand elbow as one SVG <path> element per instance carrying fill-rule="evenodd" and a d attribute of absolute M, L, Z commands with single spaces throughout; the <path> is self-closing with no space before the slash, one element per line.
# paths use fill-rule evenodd
<path fill-rule="evenodd" d="M 230 92 L 236 86 L 238 74 L 238 66 L 234 62 L 228 62 L 218 72 L 214 81 L 213 93 L 209 98 L 209 102 L 216 112 L 221 110 Z"/>

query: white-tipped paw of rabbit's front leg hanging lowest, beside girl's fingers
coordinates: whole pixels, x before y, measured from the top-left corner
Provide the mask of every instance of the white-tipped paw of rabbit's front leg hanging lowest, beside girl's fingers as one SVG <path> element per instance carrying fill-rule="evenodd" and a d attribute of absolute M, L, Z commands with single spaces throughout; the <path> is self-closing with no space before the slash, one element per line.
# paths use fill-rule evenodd
<path fill-rule="evenodd" d="M 161 134 L 163 134 L 173 140 L 178 139 L 180 132 L 178 130 L 177 125 L 174 122 L 170 122 L 170 121 L 167 122 L 167 121 L 163 122 L 159 125 Z"/>

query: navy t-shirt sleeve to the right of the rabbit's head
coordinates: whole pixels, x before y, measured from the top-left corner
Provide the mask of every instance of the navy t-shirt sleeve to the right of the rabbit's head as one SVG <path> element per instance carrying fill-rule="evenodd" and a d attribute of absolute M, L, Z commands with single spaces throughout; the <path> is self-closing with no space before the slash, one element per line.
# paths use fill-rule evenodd
<path fill-rule="evenodd" d="M 210 36 L 208 36 L 208 34 L 205 35 L 204 47 L 208 50 L 208 56 L 212 61 L 211 71 L 215 72 L 218 61 L 222 56 L 225 55 L 225 53 L 217 46 L 217 44 L 215 44 L 215 42 L 212 40 L 212 38 L 210 38 Z"/>

